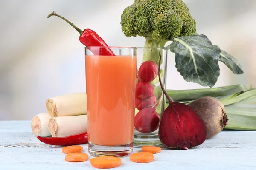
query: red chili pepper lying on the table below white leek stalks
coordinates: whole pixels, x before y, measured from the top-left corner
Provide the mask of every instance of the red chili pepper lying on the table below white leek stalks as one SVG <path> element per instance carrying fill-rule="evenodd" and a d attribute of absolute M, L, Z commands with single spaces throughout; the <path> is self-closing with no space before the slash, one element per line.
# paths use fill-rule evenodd
<path fill-rule="evenodd" d="M 50 145 L 57 145 L 57 146 L 71 146 L 71 145 L 77 145 L 77 144 L 86 144 L 88 143 L 88 134 L 80 133 L 76 135 L 70 135 L 66 137 L 41 137 L 36 136 L 37 139 L 39 139 L 41 142 L 44 142 L 45 144 Z"/>

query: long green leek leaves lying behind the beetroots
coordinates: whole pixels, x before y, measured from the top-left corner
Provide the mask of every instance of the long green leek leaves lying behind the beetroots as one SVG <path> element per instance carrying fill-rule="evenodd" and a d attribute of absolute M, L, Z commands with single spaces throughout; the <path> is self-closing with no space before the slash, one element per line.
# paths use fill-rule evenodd
<path fill-rule="evenodd" d="M 229 119 L 225 129 L 256 130 L 256 89 L 231 85 L 220 88 L 167 90 L 167 93 L 175 102 L 185 104 L 205 96 L 215 97 L 225 106 Z M 167 106 L 168 103 L 165 108 Z"/>

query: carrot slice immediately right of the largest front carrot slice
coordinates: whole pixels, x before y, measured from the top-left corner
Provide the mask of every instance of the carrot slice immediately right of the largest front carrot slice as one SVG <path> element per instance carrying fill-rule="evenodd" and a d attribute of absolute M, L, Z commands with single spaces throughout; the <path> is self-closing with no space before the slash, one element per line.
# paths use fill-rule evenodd
<path fill-rule="evenodd" d="M 130 161 L 138 163 L 152 162 L 154 161 L 154 156 L 150 152 L 137 152 L 130 155 Z"/>

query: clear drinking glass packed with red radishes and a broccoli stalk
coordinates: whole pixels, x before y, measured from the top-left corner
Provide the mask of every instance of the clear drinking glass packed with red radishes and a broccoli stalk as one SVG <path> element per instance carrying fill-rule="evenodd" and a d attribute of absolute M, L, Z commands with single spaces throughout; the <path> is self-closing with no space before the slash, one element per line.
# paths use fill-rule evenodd
<path fill-rule="evenodd" d="M 158 137 L 158 127 L 160 123 L 160 116 L 164 111 L 166 97 L 162 92 L 158 74 L 155 79 L 150 82 L 148 82 L 150 79 L 147 77 L 145 78 L 147 81 L 143 80 L 145 75 L 140 76 L 140 74 L 143 74 L 143 68 L 140 69 L 140 66 L 143 62 L 147 61 L 153 61 L 155 63 L 153 63 L 154 67 L 157 65 L 157 68 L 159 62 L 161 62 L 161 81 L 163 83 L 163 87 L 166 89 L 167 50 L 162 48 L 137 48 L 137 77 L 139 82 L 137 81 L 136 84 L 134 119 L 134 145 L 137 146 L 161 144 Z M 145 63 L 144 66 L 146 66 Z M 152 71 L 150 69 L 150 66 L 148 68 L 144 68 L 144 71 L 148 71 L 148 73 L 144 74 L 151 74 Z M 138 97 L 141 91 L 147 92 L 148 88 L 152 89 L 151 86 L 154 88 L 153 96 L 149 99 L 147 96 L 145 100 Z"/>

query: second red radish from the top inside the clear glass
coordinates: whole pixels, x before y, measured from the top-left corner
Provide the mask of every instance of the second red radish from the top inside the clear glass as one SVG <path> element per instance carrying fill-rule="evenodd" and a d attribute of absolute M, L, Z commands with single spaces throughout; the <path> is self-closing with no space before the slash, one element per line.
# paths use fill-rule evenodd
<path fill-rule="evenodd" d="M 135 97 L 138 100 L 148 100 L 154 95 L 154 87 L 149 82 L 140 81 L 136 85 Z"/>

